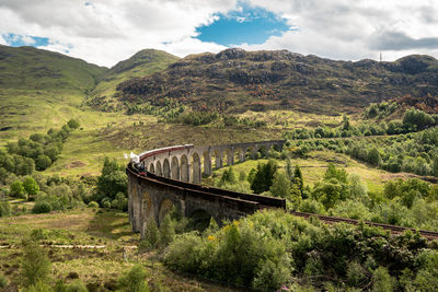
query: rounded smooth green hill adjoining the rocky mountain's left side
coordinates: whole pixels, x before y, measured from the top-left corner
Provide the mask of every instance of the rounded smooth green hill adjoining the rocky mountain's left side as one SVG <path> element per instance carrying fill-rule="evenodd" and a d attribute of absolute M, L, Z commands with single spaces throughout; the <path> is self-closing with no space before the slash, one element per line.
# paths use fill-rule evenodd
<path fill-rule="evenodd" d="M 96 87 L 87 97 L 87 104 L 101 109 L 112 110 L 117 108 L 116 101 L 112 98 L 117 84 L 125 80 L 145 77 L 164 70 L 170 63 L 180 58 L 169 52 L 157 49 L 143 49 L 127 60 L 118 62 L 111 68 L 100 80 Z"/>

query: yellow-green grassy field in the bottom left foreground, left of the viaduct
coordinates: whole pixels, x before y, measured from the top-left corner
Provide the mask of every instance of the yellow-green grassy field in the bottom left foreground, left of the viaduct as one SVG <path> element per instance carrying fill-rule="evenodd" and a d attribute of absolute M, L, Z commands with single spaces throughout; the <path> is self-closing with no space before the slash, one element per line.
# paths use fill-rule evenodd
<path fill-rule="evenodd" d="M 54 281 L 77 272 L 85 284 L 103 289 L 114 285 L 124 271 L 139 262 L 149 273 L 152 291 L 237 291 L 175 275 L 158 261 L 155 254 L 138 254 L 131 247 L 138 244 L 139 234 L 131 232 L 127 213 L 89 208 L 0 219 L 0 272 L 11 282 L 8 289 L 12 290 L 8 291 L 16 291 L 22 258 L 20 243 L 34 229 L 44 229 L 46 240 L 42 244 L 47 245 Z M 58 248 L 54 245 L 103 245 L 105 248 Z M 126 247 L 126 261 L 123 247 Z"/>

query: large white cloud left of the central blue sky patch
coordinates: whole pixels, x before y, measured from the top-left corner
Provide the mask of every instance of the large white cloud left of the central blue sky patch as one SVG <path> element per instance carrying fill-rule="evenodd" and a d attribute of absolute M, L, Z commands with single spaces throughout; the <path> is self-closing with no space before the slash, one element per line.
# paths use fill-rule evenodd
<path fill-rule="evenodd" d="M 235 0 L 2 0 L 0 19 L 8 21 L 0 22 L 0 34 L 48 37 L 46 49 L 113 66 L 143 48 L 181 57 L 221 50 L 193 37 L 214 13 L 235 7 Z"/>

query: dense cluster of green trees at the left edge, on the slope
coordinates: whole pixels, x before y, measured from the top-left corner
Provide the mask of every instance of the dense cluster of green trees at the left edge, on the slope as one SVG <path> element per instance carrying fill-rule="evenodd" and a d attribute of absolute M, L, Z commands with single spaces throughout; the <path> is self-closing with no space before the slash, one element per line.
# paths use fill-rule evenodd
<path fill-rule="evenodd" d="M 61 129 L 49 129 L 46 135 L 33 133 L 28 139 L 7 144 L 8 152 L 0 150 L 0 180 L 8 173 L 31 175 L 35 168 L 48 168 L 62 151 L 62 143 L 70 133 L 79 128 L 79 122 L 70 119 Z"/>

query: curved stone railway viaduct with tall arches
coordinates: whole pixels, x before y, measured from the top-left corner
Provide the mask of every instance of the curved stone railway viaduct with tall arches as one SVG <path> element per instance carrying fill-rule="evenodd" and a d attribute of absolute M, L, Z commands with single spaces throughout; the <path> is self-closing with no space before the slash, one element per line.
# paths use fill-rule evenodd
<path fill-rule="evenodd" d="M 173 207 L 185 217 L 204 211 L 218 223 L 234 220 L 265 208 L 284 208 L 286 200 L 201 186 L 201 176 L 210 176 L 216 168 L 254 159 L 257 152 L 272 147 L 283 148 L 284 140 L 222 145 L 193 144 L 154 149 L 141 153 L 140 163 L 147 175 L 138 173 L 132 163 L 128 175 L 128 212 L 132 231 L 145 235 L 145 229 L 154 220 L 160 225 Z"/>

